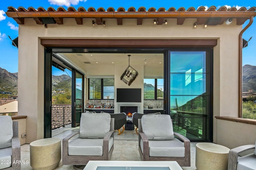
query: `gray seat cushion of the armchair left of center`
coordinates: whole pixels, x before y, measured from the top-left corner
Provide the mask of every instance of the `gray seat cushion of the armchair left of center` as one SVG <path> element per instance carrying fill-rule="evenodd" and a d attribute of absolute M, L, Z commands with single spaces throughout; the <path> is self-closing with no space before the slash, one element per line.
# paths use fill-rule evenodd
<path fill-rule="evenodd" d="M 108 150 L 114 145 L 113 137 L 108 142 Z M 68 143 L 68 155 L 102 156 L 103 139 L 76 138 Z"/>

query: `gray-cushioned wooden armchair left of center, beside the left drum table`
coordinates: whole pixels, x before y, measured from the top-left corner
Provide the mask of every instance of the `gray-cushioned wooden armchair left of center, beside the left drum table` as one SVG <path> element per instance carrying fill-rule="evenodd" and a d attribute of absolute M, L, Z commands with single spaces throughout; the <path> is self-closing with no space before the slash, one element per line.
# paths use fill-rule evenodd
<path fill-rule="evenodd" d="M 79 137 L 71 139 L 79 133 Z M 86 165 L 89 160 L 110 160 L 114 150 L 114 119 L 109 113 L 82 113 L 80 130 L 62 140 L 64 165 Z"/>

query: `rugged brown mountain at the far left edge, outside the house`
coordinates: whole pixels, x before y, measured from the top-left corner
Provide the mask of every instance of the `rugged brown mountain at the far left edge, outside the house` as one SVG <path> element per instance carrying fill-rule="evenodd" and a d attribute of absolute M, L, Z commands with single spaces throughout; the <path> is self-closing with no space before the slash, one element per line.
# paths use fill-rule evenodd
<path fill-rule="evenodd" d="M 18 94 L 18 76 L 0 67 L 0 91 Z M 4 96 L 0 96 L 4 97 Z"/>

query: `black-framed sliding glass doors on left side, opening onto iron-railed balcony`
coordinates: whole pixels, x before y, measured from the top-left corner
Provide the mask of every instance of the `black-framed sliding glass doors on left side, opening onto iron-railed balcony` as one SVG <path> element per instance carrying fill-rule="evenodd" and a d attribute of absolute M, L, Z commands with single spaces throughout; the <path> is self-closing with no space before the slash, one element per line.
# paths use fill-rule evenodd
<path fill-rule="evenodd" d="M 46 49 L 44 61 L 44 138 L 52 130 L 80 123 L 84 110 L 84 74 Z"/>

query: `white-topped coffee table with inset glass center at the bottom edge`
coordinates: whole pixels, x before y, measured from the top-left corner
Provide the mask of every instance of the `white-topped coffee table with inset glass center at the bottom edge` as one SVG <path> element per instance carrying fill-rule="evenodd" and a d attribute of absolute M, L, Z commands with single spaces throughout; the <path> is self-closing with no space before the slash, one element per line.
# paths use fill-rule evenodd
<path fill-rule="evenodd" d="M 90 160 L 84 170 L 182 170 L 176 161 Z"/>

